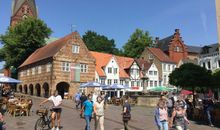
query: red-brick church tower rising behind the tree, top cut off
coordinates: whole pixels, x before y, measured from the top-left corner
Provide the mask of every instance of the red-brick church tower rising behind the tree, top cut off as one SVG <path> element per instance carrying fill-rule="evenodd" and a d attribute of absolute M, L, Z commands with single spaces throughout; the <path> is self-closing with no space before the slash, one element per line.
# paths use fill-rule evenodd
<path fill-rule="evenodd" d="M 35 0 L 13 0 L 11 11 L 10 26 L 14 26 L 28 16 L 35 18 L 38 16 Z"/>

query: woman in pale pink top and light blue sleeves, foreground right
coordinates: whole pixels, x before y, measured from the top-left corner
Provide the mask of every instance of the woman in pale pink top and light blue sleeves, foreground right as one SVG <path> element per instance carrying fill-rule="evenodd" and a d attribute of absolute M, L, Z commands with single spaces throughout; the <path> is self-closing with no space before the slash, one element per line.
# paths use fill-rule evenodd
<path fill-rule="evenodd" d="M 168 130 L 168 112 L 165 100 L 159 100 L 154 117 L 158 130 Z"/>

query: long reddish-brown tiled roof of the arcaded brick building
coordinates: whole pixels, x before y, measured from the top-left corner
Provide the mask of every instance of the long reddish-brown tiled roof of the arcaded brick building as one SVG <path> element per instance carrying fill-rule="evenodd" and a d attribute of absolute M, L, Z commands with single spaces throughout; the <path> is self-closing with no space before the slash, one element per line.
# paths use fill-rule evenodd
<path fill-rule="evenodd" d="M 73 32 L 63 38 L 45 45 L 44 47 L 37 49 L 24 61 L 23 64 L 19 66 L 19 68 L 53 57 L 67 43 L 67 41 L 71 39 L 73 35 L 78 35 L 78 33 Z"/>

